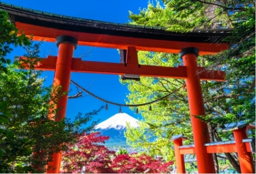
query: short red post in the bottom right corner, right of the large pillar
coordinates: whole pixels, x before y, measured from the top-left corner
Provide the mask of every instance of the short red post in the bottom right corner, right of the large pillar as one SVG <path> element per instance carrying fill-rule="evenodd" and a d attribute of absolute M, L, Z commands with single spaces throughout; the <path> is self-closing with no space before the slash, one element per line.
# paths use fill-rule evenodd
<path fill-rule="evenodd" d="M 253 156 L 251 152 L 247 152 L 243 139 L 247 139 L 246 126 L 233 131 L 235 146 L 237 147 L 237 154 L 241 173 L 255 173 Z"/>

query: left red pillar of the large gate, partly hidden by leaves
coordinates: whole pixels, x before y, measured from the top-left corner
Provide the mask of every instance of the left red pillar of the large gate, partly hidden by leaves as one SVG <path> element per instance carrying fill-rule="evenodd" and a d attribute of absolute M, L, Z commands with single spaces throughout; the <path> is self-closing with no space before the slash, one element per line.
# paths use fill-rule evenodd
<path fill-rule="evenodd" d="M 78 41 L 72 36 L 58 36 L 56 38 L 56 44 L 59 48 L 56 70 L 54 74 L 53 86 L 61 86 L 62 92 L 68 92 L 70 77 L 71 77 L 71 66 L 74 49 L 76 49 Z M 64 95 L 59 98 L 56 104 L 56 108 L 59 108 L 57 115 L 51 115 L 49 119 L 54 119 L 59 122 L 65 117 L 67 108 L 68 96 Z M 52 117 L 56 116 L 56 117 Z M 47 173 L 59 173 L 61 167 L 62 152 L 54 153 L 53 159 L 48 163 Z"/>

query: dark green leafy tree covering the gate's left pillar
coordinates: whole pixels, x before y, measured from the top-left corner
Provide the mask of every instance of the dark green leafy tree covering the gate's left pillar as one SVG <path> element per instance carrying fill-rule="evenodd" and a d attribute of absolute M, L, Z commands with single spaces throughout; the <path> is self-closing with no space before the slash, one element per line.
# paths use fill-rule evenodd
<path fill-rule="evenodd" d="M 85 115 L 79 113 L 74 122 L 63 119 L 54 122 L 47 118 L 61 87 L 51 95 L 51 87 L 44 87 L 42 71 L 34 70 L 39 61 L 41 43 L 33 43 L 24 34 L 17 35 L 14 24 L 9 23 L 6 12 L 0 11 L 0 172 L 44 172 L 53 152 L 66 150 L 66 144 L 76 142 L 76 136 L 93 128 L 96 122 L 86 125 L 100 109 Z M 24 46 L 27 60 L 24 64 L 6 59 L 11 45 Z M 53 101 L 49 104 L 49 101 Z M 58 115 L 56 115 L 58 117 Z M 82 126 L 83 125 L 83 126 Z"/>

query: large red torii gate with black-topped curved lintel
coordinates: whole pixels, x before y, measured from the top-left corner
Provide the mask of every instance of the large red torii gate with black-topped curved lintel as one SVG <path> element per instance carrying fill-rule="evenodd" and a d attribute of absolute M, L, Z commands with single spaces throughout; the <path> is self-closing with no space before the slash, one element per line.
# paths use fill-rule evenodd
<path fill-rule="evenodd" d="M 207 153 L 204 144 L 209 143 L 207 124 L 193 115 L 205 115 L 200 80 L 224 81 L 222 71 L 203 71 L 198 67 L 197 56 L 214 54 L 228 49 L 228 43 L 221 42 L 229 35 L 229 30 L 200 30 L 189 33 L 172 33 L 162 28 L 140 27 L 126 24 L 104 23 L 95 20 L 63 17 L 36 10 L 25 9 L 1 3 L 16 28 L 27 35 L 33 34 L 33 40 L 56 41 L 58 56 L 43 59 L 37 69 L 54 70 L 54 84 L 68 91 L 71 71 L 95 72 L 123 75 L 125 73 L 140 76 L 184 78 L 186 80 L 189 109 L 194 136 L 194 151 L 197 157 L 199 173 L 215 173 L 213 157 Z M 90 62 L 73 58 L 77 45 L 98 46 L 127 50 L 125 64 L 110 62 Z M 184 66 L 159 67 L 138 64 L 137 50 L 172 52 L 180 54 Z M 200 50 L 200 52 L 199 52 Z M 65 117 L 67 96 L 59 99 L 58 108 L 62 108 L 56 122 Z M 61 165 L 61 153 L 53 155 L 49 165 L 58 173 Z"/>

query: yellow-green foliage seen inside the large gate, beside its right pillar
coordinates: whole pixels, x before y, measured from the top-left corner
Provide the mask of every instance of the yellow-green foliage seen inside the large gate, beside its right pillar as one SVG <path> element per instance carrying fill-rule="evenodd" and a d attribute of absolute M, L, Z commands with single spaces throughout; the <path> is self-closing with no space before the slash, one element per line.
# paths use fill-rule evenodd
<path fill-rule="evenodd" d="M 180 60 L 177 55 L 140 51 L 139 64 L 157 66 L 177 66 Z M 129 103 L 146 103 L 154 101 L 178 87 L 184 85 L 184 80 L 171 78 L 140 77 L 140 81 L 123 81 L 130 91 L 127 96 Z M 174 152 L 169 140 L 173 135 L 184 133 L 192 139 L 189 122 L 189 110 L 186 91 L 179 89 L 167 98 L 149 106 L 139 107 L 143 120 L 139 128 L 128 125 L 125 133 L 127 143 L 137 148 L 144 148 L 150 155 L 161 155 L 167 160 L 173 160 Z M 175 129 L 174 129 L 175 128 Z"/>

